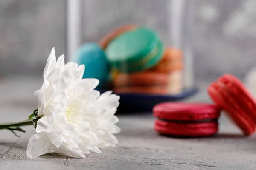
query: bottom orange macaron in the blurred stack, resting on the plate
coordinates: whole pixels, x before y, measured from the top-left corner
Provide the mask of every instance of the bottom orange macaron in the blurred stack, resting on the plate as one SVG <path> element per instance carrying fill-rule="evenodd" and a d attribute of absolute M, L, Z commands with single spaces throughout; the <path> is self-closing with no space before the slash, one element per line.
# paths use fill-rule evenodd
<path fill-rule="evenodd" d="M 116 93 L 174 94 L 181 90 L 178 74 L 143 71 L 133 74 L 119 73 L 113 79 Z"/>

